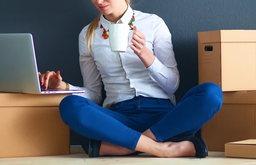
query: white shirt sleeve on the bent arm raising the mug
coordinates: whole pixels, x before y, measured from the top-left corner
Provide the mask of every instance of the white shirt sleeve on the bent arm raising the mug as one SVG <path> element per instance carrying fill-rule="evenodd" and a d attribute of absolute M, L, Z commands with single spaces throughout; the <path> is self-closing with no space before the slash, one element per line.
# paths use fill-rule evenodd
<path fill-rule="evenodd" d="M 175 93 L 180 83 L 179 71 L 173 51 L 171 33 L 162 18 L 153 21 L 154 62 L 147 69 L 154 82 L 168 93 Z"/>

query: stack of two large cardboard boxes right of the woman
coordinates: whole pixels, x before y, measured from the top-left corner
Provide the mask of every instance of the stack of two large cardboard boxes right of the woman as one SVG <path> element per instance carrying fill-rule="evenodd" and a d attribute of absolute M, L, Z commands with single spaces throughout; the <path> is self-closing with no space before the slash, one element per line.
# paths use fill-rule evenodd
<path fill-rule="evenodd" d="M 221 110 L 201 129 L 209 151 L 256 139 L 256 31 L 198 32 L 199 84 L 223 90 Z"/>

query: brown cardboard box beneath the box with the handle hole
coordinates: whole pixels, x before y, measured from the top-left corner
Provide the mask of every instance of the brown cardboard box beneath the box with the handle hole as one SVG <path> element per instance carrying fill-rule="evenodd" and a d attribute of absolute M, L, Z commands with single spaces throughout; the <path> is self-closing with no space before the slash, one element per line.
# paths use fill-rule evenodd
<path fill-rule="evenodd" d="M 225 143 L 256 139 L 256 91 L 223 92 L 220 111 L 201 128 L 209 151 L 225 151 Z"/>

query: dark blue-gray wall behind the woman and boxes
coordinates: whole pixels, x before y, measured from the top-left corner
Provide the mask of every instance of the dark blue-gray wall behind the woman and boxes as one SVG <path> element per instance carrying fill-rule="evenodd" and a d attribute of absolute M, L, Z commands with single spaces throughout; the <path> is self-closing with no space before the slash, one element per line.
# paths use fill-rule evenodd
<path fill-rule="evenodd" d="M 198 84 L 198 31 L 256 26 L 256 0 L 133 0 L 133 7 L 162 17 L 172 33 L 177 101 Z M 78 35 L 97 14 L 90 0 L 0 0 L 0 33 L 31 33 L 38 69 L 61 70 L 64 81 L 82 86 Z M 75 132 L 71 137 L 71 144 L 82 141 Z"/>

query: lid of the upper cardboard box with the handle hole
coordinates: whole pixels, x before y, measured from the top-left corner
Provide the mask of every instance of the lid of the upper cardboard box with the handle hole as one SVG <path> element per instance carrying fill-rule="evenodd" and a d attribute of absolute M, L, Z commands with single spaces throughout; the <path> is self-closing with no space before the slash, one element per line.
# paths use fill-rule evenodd
<path fill-rule="evenodd" d="M 218 30 L 198 32 L 201 43 L 256 42 L 256 30 Z"/>

